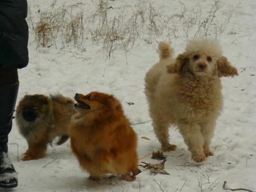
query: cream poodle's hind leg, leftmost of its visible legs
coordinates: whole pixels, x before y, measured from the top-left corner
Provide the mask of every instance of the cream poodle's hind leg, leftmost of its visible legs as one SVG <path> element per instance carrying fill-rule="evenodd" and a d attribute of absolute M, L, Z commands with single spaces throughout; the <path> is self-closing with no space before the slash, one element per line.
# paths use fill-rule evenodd
<path fill-rule="evenodd" d="M 157 139 L 161 143 L 163 151 L 175 151 L 177 145 L 169 143 L 169 123 L 153 120 L 152 123 Z"/>

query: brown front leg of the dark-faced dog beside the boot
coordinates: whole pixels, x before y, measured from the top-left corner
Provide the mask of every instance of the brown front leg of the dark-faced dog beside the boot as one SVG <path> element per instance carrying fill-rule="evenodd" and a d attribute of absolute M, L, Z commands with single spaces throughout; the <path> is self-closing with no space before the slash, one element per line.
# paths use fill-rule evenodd
<path fill-rule="evenodd" d="M 29 143 L 29 149 L 26 151 L 23 161 L 40 159 L 45 156 L 47 143 Z"/>

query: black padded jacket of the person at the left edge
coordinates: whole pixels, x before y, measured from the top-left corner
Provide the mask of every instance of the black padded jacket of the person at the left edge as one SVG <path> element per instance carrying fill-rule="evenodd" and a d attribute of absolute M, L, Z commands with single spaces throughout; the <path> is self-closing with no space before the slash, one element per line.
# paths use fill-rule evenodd
<path fill-rule="evenodd" d="M 0 0 L 0 70 L 10 65 L 26 67 L 28 25 L 26 0 Z"/>

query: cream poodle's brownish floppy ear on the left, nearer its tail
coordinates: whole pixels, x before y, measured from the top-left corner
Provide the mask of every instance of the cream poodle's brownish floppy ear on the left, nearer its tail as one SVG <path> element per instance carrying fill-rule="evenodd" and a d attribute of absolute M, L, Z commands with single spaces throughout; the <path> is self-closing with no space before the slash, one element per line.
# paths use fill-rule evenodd
<path fill-rule="evenodd" d="M 185 54 L 177 56 L 175 63 L 167 66 L 168 73 L 181 73 L 183 66 L 189 62 L 189 58 Z"/>

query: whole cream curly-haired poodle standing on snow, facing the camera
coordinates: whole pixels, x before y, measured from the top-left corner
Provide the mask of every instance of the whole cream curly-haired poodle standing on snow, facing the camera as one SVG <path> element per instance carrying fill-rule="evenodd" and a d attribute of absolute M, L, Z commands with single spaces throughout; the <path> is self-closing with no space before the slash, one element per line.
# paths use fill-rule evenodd
<path fill-rule="evenodd" d="M 166 47 L 160 43 L 160 61 L 145 76 L 152 125 L 163 150 L 176 149 L 168 132 L 176 125 L 192 159 L 201 162 L 213 155 L 209 144 L 223 106 L 220 77 L 236 76 L 237 69 L 222 56 L 217 41 L 192 39 L 176 59 Z"/>

